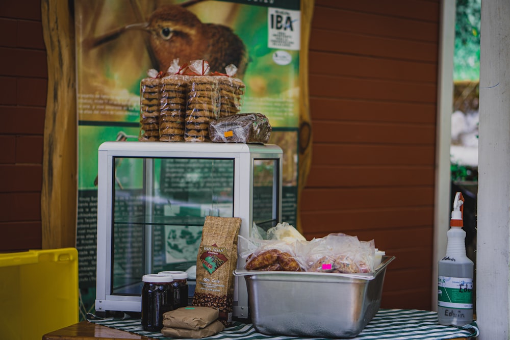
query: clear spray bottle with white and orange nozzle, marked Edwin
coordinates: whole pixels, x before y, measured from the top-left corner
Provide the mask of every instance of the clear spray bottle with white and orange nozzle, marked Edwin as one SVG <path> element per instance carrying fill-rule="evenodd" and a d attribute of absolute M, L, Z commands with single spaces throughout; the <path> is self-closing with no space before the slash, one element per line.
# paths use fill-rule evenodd
<path fill-rule="evenodd" d="M 446 256 L 438 268 L 438 319 L 440 325 L 464 326 L 473 321 L 473 261 L 466 256 L 463 227 L 464 197 L 453 201 Z"/>

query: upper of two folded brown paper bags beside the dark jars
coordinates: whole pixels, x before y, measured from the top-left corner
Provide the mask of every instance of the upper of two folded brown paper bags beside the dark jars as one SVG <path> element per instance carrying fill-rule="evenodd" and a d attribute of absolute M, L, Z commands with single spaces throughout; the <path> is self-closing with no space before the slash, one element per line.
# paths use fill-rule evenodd
<path fill-rule="evenodd" d="M 210 307 L 181 307 L 163 314 L 163 326 L 198 330 L 218 319 L 219 311 Z"/>

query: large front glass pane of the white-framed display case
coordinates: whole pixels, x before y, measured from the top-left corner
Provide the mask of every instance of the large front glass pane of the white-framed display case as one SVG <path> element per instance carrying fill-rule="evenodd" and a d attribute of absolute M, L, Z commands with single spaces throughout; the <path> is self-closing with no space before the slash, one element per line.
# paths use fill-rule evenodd
<path fill-rule="evenodd" d="M 234 159 L 113 162 L 111 292 L 137 296 L 144 274 L 196 264 L 205 216 L 233 217 Z"/>

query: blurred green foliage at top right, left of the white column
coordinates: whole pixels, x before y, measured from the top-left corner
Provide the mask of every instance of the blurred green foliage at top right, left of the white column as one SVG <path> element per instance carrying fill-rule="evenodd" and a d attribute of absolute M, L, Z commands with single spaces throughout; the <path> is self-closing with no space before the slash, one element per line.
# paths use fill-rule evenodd
<path fill-rule="evenodd" d="M 480 78 L 481 0 L 456 0 L 453 80 Z"/>

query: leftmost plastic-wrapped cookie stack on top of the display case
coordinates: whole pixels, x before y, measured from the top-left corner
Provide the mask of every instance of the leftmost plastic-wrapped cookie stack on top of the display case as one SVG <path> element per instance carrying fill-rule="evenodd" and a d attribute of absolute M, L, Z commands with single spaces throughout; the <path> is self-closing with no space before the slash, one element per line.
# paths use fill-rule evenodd
<path fill-rule="evenodd" d="M 156 73 L 154 73 L 156 72 Z M 150 70 L 149 77 L 140 81 L 140 134 L 139 141 L 159 141 L 159 84 L 158 71 Z"/>

